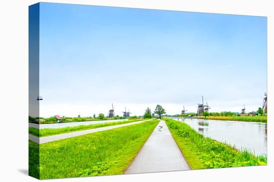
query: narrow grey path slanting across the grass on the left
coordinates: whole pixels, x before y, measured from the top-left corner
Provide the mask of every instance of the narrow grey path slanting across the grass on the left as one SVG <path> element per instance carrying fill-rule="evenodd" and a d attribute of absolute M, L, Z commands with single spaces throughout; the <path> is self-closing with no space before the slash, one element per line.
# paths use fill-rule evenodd
<path fill-rule="evenodd" d="M 149 121 L 149 120 L 144 120 L 144 121 Z M 130 123 L 126 123 L 126 124 L 118 124 L 118 125 L 114 125 L 114 126 L 99 127 L 99 128 L 94 128 L 94 129 L 86 129 L 86 130 L 82 130 L 82 131 L 74 131 L 74 132 L 64 133 L 64 134 L 56 134 L 56 135 L 45 136 L 45 137 L 40 137 L 40 138 L 29 134 L 28 139 L 31 141 L 34 141 L 35 143 L 43 144 L 43 143 L 47 143 L 47 142 L 51 142 L 51 141 L 61 140 L 61 139 L 65 139 L 65 138 L 71 138 L 71 137 L 94 133 L 94 132 L 98 132 L 98 131 L 105 131 L 105 130 L 114 129 L 114 128 L 118 128 L 118 127 L 124 127 L 124 126 L 133 125 L 133 124 L 138 124 L 138 123 L 141 123 L 144 121 L 136 121 L 136 122 L 130 122 Z"/>

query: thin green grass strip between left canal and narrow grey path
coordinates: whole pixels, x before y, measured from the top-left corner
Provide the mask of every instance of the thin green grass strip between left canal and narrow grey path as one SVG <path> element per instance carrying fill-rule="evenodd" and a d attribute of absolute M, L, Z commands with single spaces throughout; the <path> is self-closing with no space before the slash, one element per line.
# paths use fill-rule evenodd
<path fill-rule="evenodd" d="M 43 137 L 43 136 L 50 136 L 50 135 L 55 135 L 55 134 L 62 134 L 62 133 L 86 130 L 86 129 L 93 129 L 93 128 L 98 128 L 98 127 L 113 126 L 113 125 L 118 125 L 118 124 L 136 122 L 136 121 L 144 121 L 144 120 L 147 120 L 147 119 L 105 122 L 105 123 L 98 123 L 98 124 L 69 126 L 69 127 L 62 127 L 62 128 L 42 128 L 42 129 L 40 129 L 40 133 L 39 133 L 38 128 L 29 127 L 28 133 L 31 135 L 34 135 L 34 136 Z"/>

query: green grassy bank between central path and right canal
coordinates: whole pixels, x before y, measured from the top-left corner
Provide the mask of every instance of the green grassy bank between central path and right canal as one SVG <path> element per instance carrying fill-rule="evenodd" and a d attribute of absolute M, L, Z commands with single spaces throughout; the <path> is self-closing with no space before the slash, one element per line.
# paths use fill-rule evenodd
<path fill-rule="evenodd" d="M 266 165 L 267 157 L 254 156 L 230 145 L 204 137 L 188 124 L 163 119 L 191 169 Z"/>

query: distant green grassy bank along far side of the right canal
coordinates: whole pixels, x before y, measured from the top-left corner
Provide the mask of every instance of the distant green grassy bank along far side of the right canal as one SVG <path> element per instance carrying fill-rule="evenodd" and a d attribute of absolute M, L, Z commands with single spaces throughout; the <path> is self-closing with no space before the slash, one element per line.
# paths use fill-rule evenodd
<path fill-rule="evenodd" d="M 188 118 L 188 117 L 185 117 Z M 267 116 L 209 116 L 209 117 L 191 117 L 205 120 L 223 120 L 223 121 L 247 121 L 247 122 L 267 122 Z"/>

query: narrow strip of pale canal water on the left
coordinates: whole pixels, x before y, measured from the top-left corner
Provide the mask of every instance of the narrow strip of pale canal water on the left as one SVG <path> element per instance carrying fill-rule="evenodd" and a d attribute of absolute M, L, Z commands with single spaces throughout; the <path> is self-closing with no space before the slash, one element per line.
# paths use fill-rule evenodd
<path fill-rule="evenodd" d="M 106 122 L 118 122 L 118 121 L 126 121 L 125 120 L 103 120 L 103 121 L 79 121 L 79 122 L 61 122 L 61 123 L 52 123 L 52 124 L 35 124 L 28 123 L 28 127 L 35 128 L 61 128 L 61 127 L 69 127 L 69 126 L 79 126 L 79 125 L 89 125 L 89 124 L 98 124 L 98 123 L 106 123 Z"/>

